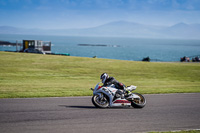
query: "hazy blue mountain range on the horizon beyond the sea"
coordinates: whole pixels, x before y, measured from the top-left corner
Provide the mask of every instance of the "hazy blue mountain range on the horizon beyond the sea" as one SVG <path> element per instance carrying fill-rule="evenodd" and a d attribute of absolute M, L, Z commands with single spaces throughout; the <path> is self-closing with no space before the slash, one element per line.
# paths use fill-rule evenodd
<path fill-rule="evenodd" d="M 25 29 L 0 26 L 0 34 L 200 39 L 200 24 L 156 26 L 116 21 L 82 29 Z"/>

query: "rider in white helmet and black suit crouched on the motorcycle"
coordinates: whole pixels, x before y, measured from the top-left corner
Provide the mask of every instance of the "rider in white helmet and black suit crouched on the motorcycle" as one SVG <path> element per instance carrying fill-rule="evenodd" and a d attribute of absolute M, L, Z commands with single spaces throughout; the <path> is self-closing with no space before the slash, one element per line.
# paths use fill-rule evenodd
<path fill-rule="evenodd" d="M 117 89 L 126 91 L 124 84 L 118 82 L 114 77 L 109 77 L 109 75 L 107 73 L 101 74 L 100 79 L 103 83 L 103 86 L 108 86 L 108 85 L 114 84 Z"/>

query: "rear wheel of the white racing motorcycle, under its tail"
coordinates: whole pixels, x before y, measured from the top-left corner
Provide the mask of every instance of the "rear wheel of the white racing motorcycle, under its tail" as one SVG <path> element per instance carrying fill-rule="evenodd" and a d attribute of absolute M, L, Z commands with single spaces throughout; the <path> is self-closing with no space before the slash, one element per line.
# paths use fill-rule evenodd
<path fill-rule="evenodd" d="M 143 108 L 146 105 L 144 96 L 139 93 L 134 93 L 134 95 L 137 95 L 138 98 L 134 98 L 133 101 L 131 101 L 131 106 L 134 108 Z"/>

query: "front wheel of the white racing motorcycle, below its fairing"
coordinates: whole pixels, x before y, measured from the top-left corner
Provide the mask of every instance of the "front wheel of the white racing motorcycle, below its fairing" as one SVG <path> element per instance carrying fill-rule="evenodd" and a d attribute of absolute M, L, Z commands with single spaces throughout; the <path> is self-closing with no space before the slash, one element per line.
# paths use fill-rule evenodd
<path fill-rule="evenodd" d="M 102 95 L 102 97 L 100 97 L 99 95 L 94 95 L 92 97 L 92 103 L 97 108 L 107 108 L 107 107 L 109 107 L 109 100 L 104 95 Z"/>

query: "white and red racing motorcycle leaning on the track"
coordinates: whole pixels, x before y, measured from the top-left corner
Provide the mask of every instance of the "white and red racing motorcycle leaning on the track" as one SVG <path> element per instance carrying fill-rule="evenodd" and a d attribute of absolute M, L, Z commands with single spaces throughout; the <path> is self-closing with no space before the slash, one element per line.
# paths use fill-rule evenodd
<path fill-rule="evenodd" d="M 146 99 L 139 93 L 133 93 L 137 86 L 128 86 L 124 90 L 115 88 L 115 85 L 100 86 L 101 82 L 97 83 L 95 88 L 91 88 L 93 91 L 92 103 L 97 108 L 108 108 L 108 107 L 134 107 L 143 108 L 146 105 Z"/>

